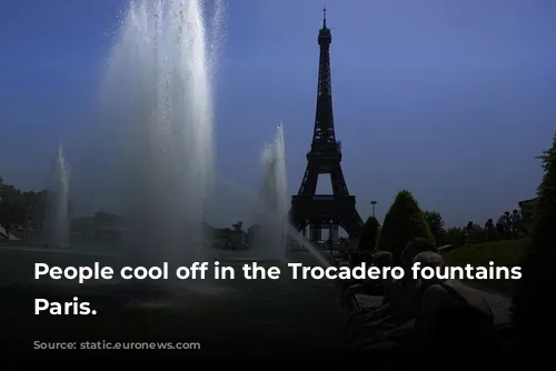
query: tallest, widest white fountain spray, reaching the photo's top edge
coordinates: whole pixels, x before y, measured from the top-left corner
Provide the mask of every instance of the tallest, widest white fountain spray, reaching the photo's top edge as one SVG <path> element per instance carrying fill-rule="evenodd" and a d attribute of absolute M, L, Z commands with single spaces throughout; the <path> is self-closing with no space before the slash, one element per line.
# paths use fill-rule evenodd
<path fill-rule="evenodd" d="M 218 23 L 222 3 L 212 3 Z M 110 56 L 105 202 L 122 213 L 125 240 L 140 263 L 207 258 L 210 72 L 219 36 L 207 33 L 203 11 L 200 0 L 132 1 Z"/>

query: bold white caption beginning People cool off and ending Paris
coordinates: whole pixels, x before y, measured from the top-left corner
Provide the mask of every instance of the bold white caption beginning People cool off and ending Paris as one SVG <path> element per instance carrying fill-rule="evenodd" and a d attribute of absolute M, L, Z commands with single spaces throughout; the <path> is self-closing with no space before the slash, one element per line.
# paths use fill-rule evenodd
<path fill-rule="evenodd" d="M 211 267 L 209 267 L 211 265 Z M 456 280 L 519 280 L 522 278 L 520 267 L 497 267 L 489 262 L 488 267 L 424 267 L 416 262 L 410 272 L 401 267 L 374 267 L 363 263 L 359 267 L 308 267 L 301 263 L 287 263 L 290 278 L 294 280 L 379 280 L 391 278 L 399 280 L 406 274 L 418 279 L 456 279 Z M 240 271 L 245 280 L 278 280 L 281 277 L 280 267 L 264 267 L 257 262 L 242 264 Z M 211 271 L 209 274 L 208 272 Z M 115 269 L 95 262 L 92 265 L 80 267 L 56 267 L 46 263 L 34 264 L 34 279 L 67 280 L 82 284 L 87 281 L 113 280 Z M 168 262 L 156 267 L 123 267 L 118 270 L 116 279 L 121 280 L 234 280 L 236 268 L 220 265 L 218 261 L 195 262 L 191 265 L 171 268 Z M 91 309 L 90 302 L 80 302 L 77 295 L 66 302 L 49 301 L 46 298 L 34 299 L 34 314 L 52 315 L 89 315 L 97 314 Z"/>

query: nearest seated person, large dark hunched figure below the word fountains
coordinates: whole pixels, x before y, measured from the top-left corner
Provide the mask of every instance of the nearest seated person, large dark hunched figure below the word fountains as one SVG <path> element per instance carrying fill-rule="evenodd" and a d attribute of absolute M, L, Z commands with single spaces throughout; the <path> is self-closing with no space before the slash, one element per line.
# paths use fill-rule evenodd
<path fill-rule="evenodd" d="M 421 267 L 445 269 L 438 253 L 421 252 L 415 257 Z M 483 294 L 457 280 L 421 279 L 424 292 L 417 319 L 418 351 L 465 354 L 476 360 L 496 353 L 496 334 L 490 305 Z M 457 353 L 457 354 L 456 354 Z"/>

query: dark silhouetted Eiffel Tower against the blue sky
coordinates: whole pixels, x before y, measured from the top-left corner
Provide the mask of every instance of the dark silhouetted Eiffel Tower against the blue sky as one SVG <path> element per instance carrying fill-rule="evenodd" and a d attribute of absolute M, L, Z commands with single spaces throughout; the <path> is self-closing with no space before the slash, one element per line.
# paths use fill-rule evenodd
<path fill-rule="evenodd" d="M 332 90 L 330 82 L 330 43 L 332 37 L 326 27 L 326 9 L 322 28 L 318 33 L 320 59 L 318 71 L 317 112 L 312 131 L 311 149 L 307 153 L 307 170 L 299 191 L 291 198 L 289 218 L 298 231 L 311 228 L 311 241 L 320 240 L 321 228 L 334 233 L 338 225 L 349 237 L 359 237 L 363 220 L 355 207 L 341 171 L 341 142 L 336 140 L 332 116 Z M 319 174 L 329 174 L 332 194 L 316 194 Z"/>

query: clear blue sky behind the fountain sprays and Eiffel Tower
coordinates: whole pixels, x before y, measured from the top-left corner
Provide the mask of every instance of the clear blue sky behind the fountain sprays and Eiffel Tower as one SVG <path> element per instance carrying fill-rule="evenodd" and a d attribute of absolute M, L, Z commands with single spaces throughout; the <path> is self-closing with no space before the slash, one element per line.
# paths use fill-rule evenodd
<path fill-rule="evenodd" d="M 535 194 L 556 130 L 556 2 L 334 0 L 332 94 L 342 168 L 364 218 L 404 188 L 447 224 L 484 223 Z M 3 0 L 0 174 L 44 186 L 59 142 L 72 168 L 93 127 L 120 0 Z M 315 117 L 322 1 L 232 0 L 216 80 L 217 167 L 255 190 L 262 142 L 284 122 L 290 193 Z M 83 182 L 83 181 L 81 181 Z M 83 210 L 90 194 L 73 183 Z M 85 188 L 82 188 L 85 189 Z M 330 187 L 320 184 L 326 192 Z M 236 192 L 237 193 L 237 192 Z M 89 198 L 89 199 L 88 199 Z M 234 191 L 216 224 L 250 221 Z"/>

